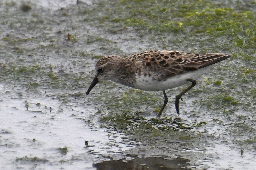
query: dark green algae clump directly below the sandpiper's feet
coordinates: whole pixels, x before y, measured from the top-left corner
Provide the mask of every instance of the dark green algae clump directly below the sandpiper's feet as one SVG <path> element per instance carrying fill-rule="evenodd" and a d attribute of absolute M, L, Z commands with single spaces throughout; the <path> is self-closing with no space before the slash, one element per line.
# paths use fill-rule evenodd
<path fill-rule="evenodd" d="M 113 116 L 100 117 L 101 124 L 109 124 L 112 128 L 121 131 L 125 134 L 133 135 L 148 135 L 150 137 L 165 136 L 170 129 L 190 129 L 185 126 L 180 120 L 172 118 L 144 118 L 140 114 L 115 114 Z"/>

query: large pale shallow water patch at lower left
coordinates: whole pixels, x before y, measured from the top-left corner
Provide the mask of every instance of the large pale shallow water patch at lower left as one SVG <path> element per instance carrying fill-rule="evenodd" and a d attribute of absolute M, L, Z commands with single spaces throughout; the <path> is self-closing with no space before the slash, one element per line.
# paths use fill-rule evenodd
<path fill-rule="evenodd" d="M 7 93 L 6 85 L 1 85 Z M 26 98 L 28 103 L 4 93 L 1 97 L 1 169 L 93 169 L 96 160 L 133 147 L 120 143 L 117 132 L 84 123 L 79 117 L 86 116 L 83 107 L 65 106 L 60 113 L 55 110 L 60 103 L 49 97 Z M 60 148 L 65 147 L 67 153 L 62 153 Z"/>

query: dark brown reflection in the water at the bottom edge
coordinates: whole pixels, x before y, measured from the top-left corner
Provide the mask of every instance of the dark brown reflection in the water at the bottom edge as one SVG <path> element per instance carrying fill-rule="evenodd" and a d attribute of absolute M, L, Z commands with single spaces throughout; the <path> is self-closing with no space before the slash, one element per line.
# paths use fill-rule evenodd
<path fill-rule="evenodd" d="M 93 163 L 93 167 L 97 170 L 173 170 L 173 169 L 188 169 L 188 159 L 176 158 L 170 159 L 169 157 L 137 157 L 131 156 L 129 160 L 111 160 L 103 161 L 101 163 Z"/>

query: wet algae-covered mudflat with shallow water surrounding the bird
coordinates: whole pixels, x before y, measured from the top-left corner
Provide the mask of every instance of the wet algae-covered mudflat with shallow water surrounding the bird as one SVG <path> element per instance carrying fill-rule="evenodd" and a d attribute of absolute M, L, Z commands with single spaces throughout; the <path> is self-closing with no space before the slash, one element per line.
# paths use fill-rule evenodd
<path fill-rule="evenodd" d="M 1 169 L 256 169 L 255 1 L 0 2 Z M 221 52 L 186 86 L 113 82 L 106 55 Z"/>

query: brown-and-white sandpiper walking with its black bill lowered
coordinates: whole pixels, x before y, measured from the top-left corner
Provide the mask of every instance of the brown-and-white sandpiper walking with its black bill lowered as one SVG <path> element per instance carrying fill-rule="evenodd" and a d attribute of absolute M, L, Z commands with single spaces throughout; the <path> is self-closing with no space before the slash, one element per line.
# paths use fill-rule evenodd
<path fill-rule="evenodd" d="M 229 58 L 219 53 L 193 54 L 178 51 L 144 51 L 126 58 L 106 56 L 96 66 L 96 75 L 86 95 L 99 80 L 114 82 L 147 91 L 163 91 L 164 104 L 159 117 L 168 102 L 165 90 L 192 84 L 176 96 L 175 108 L 179 115 L 179 99 L 196 85 L 196 78 L 210 69 L 212 64 Z"/>

